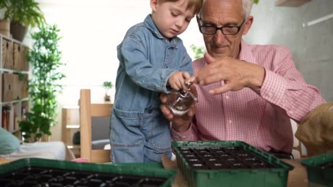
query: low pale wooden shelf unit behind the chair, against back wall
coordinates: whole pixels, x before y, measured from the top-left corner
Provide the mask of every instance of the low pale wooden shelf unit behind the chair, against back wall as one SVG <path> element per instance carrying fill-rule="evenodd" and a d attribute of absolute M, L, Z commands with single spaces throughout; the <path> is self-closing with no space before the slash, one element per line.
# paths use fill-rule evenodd
<path fill-rule="evenodd" d="M 75 157 L 80 157 L 80 144 L 73 143 L 74 134 L 80 131 L 80 111 L 78 105 L 62 107 L 61 112 L 61 140 L 67 148 L 72 149 Z M 79 140 L 79 139 L 78 139 Z"/>

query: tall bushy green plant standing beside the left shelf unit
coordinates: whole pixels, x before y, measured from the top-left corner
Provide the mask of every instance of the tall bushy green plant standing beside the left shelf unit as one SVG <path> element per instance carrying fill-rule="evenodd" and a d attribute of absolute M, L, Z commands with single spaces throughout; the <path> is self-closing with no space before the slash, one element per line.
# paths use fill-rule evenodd
<path fill-rule="evenodd" d="M 29 51 L 28 60 L 32 65 L 32 79 L 29 80 L 31 112 L 26 113 L 27 120 L 19 127 L 27 141 L 36 141 L 43 134 L 51 135 L 50 127 L 56 124 L 56 93 L 61 92 L 59 80 L 65 75 L 58 71 L 61 52 L 58 50 L 59 30 L 56 25 L 43 26 L 31 34 L 35 43 Z"/>

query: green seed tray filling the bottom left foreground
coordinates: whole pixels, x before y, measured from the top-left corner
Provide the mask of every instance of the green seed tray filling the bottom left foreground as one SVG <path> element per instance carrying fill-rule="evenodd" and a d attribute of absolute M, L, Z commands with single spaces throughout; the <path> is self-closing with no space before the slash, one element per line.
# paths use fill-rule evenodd
<path fill-rule="evenodd" d="M 40 158 L 0 165 L 0 187 L 171 187 L 175 170 Z"/>

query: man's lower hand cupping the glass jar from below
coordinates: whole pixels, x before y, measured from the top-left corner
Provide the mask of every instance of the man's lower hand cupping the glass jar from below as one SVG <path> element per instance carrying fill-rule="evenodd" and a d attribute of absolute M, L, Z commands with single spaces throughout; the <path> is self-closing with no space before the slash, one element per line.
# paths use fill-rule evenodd
<path fill-rule="evenodd" d="M 191 85 L 191 91 L 197 97 L 197 90 L 194 85 Z M 163 115 L 166 117 L 166 119 L 172 122 L 172 128 L 174 128 L 177 132 L 187 131 L 191 124 L 192 117 L 195 114 L 195 102 L 192 103 L 190 109 L 185 115 L 175 116 L 167 107 L 166 99 L 167 99 L 167 94 L 161 93 L 160 100 L 162 104 L 160 106 L 160 109 Z"/>

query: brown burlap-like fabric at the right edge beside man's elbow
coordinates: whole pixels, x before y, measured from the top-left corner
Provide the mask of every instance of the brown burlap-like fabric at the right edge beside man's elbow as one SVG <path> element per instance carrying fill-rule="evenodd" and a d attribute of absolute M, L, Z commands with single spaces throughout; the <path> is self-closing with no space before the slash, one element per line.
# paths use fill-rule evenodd
<path fill-rule="evenodd" d="M 308 156 L 333 152 L 333 102 L 317 106 L 300 123 L 295 136 Z"/>

